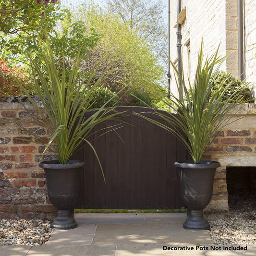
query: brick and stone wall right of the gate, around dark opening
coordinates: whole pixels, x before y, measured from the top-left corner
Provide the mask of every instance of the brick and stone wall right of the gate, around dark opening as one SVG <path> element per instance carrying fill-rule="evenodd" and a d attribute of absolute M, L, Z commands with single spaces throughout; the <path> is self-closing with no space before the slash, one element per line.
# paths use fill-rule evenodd
<path fill-rule="evenodd" d="M 204 156 L 221 164 L 215 174 L 212 200 L 205 209 L 205 213 L 208 216 L 211 214 L 212 218 L 213 213 L 225 215 L 229 210 L 226 167 L 256 166 L 256 104 L 244 104 L 243 108 L 234 112 L 235 115 L 229 115 L 231 121 L 250 115 L 226 126 Z"/>

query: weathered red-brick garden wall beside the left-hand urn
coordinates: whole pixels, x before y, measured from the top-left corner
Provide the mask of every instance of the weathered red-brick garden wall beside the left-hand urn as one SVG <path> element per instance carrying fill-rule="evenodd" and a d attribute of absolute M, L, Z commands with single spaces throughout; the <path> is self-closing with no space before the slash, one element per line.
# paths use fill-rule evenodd
<path fill-rule="evenodd" d="M 8 118 L 28 117 L 19 101 L 32 110 L 25 97 L 8 97 L 0 102 L 0 218 L 53 219 L 56 209 L 47 196 L 44 171 L 38 167 L 44 147 L 28 141 L 30 138 L 17 125 L 7 123 Z M 35 116 L 35 110 L 32 112 Z M 47 137 L 45 128 L 23 124 L 29 131 Z"/>

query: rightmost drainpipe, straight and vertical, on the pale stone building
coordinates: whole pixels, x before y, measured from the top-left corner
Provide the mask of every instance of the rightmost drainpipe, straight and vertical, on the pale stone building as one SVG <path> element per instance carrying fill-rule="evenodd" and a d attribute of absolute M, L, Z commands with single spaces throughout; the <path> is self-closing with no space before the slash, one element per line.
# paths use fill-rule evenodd
<path fill-rule="evenodd" d="M 238 28 L 238 75 L 240 80 L 244 80 L 243 0 L 237 0 L 237 28 Z"/>

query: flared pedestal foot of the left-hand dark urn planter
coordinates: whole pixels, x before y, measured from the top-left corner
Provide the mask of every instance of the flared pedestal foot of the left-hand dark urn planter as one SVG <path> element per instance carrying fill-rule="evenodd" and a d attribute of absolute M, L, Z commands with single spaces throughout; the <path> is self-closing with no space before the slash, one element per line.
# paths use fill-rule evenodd
<path fill-rule="evenodd" d="M 52 221 L 50 227 L 53 229 L 74 229 L 77 227 L 77 223 L 70 209 L 58 210 L 57 217 Z"/>

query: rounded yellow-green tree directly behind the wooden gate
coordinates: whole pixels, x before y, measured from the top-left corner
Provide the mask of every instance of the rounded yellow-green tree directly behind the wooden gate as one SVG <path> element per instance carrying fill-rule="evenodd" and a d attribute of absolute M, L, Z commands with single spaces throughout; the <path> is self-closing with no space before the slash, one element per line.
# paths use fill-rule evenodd
<path fill-rule="evenodd" d="M 129 24 L 120 21 L 119 17 L 104 12 L 99 6 L 87 2 L 72 10 L 73 19 L 83 21 L 88 27 L 93 24 L 96 33 L 100 35 L 97 46 L 86 56 L 82 70 L 88 71 L 98 63 L 95 81 L 102 73 L 109 70 L 104 86 L 112 91 L 119 91 L 126 86 L 119 97 L 124 105 L 137 102 L 130 93 L 148 94 L 152 105 L 156 99 L 152 91 L 155 83 L 161 79 L 162 67 L 148 47 L 145 39 L 131 31 Z M 149 104 L 149 105 L 150 105 Z"/>

